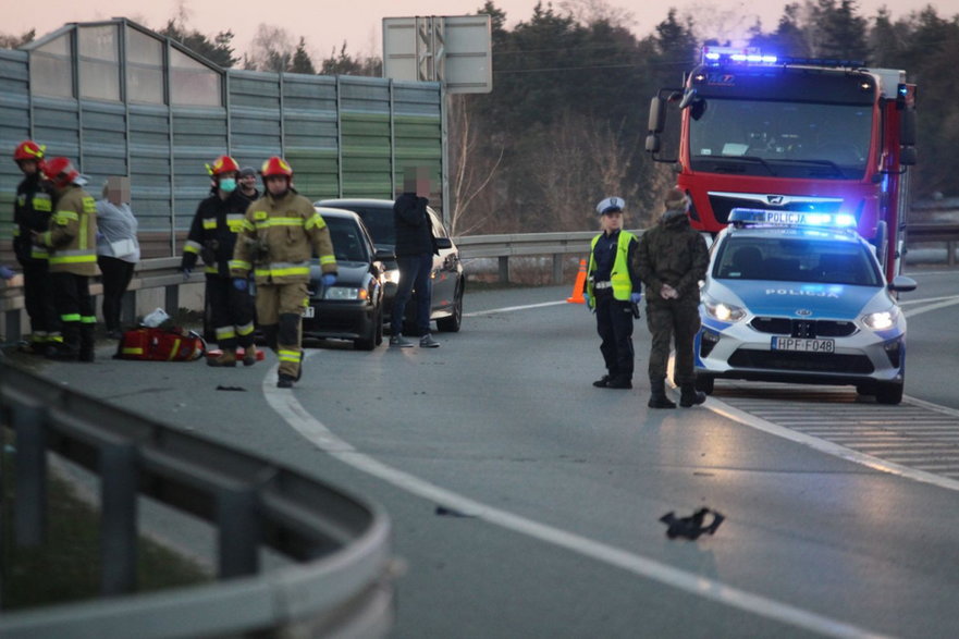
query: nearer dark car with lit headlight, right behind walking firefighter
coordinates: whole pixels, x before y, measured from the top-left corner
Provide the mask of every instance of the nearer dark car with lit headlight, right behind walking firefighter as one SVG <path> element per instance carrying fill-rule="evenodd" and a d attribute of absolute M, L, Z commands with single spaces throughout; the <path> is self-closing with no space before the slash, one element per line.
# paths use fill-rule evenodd
<path fill-rule="evenodd" d="M 392 250 L 377 250 L 362 220 L 347 210 L 317 207 L 330 229 L 336 256 L 336 283 L 323 287 L 318 258 L 310 267 L 309 304 L 303 314 L 303 336 L 351 340 L 361 351 L 383 342 L 385 261 Z"/>

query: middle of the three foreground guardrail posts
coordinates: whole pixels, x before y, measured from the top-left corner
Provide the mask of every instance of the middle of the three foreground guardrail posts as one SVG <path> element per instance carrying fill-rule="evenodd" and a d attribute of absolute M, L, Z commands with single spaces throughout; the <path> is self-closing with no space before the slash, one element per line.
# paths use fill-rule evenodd
<path fill-rule="evenodd" d="M 100 450 L 100 566 L 103 594 L 136 588 L 136 448 L 108 444 Z"/>

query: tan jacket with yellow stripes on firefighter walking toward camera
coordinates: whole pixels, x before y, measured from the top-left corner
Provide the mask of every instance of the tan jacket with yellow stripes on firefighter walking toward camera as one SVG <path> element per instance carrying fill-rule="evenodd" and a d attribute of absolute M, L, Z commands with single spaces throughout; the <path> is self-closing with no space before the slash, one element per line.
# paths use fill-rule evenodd
<path fill-rule="evenodd" d="M 336 272 L 327 223 L 307 198 L 290 189 L 283 197 L 266 195 L 249 205 L 230 271 L 235 278 L 253 271 L 257 284 L 309 282 L 313 255 L 324 273 Z"/>

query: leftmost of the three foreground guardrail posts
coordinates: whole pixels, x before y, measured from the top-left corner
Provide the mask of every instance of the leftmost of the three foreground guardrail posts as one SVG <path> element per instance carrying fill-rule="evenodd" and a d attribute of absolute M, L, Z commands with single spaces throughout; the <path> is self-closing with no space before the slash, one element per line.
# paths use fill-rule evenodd
<path fill-rule="evenodd" d="M 15 405 L 16 497 L 13 504 L 13 539 L 19 546 L 36 546 L 47 534 L 47 425 L 38 406 Z"/>

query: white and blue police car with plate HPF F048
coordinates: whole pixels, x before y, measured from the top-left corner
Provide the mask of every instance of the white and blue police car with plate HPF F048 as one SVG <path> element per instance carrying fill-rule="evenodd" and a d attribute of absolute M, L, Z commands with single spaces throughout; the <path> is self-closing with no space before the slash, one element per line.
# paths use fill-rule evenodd
<path fill-rule="evenodd" d="M 906 318 L 851 216 L 734 209 L 710 249 L 697 386 L 716 379 L 851 384 L 902 401 Z"/>

